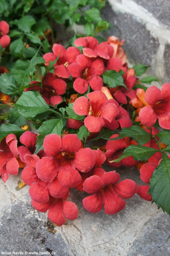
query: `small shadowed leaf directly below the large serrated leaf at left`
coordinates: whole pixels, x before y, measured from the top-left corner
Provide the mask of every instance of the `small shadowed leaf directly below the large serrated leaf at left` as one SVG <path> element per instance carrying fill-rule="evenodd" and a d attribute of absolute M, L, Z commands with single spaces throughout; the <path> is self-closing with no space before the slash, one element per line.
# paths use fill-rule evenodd
<path fill-rule="evenodd" d="M 24 116 L 21 116 L 15 108 L 11 108 L 8 113 L 9 123 L 15 124 L 19 127 L 23 126 L 26 122 Z"/>

